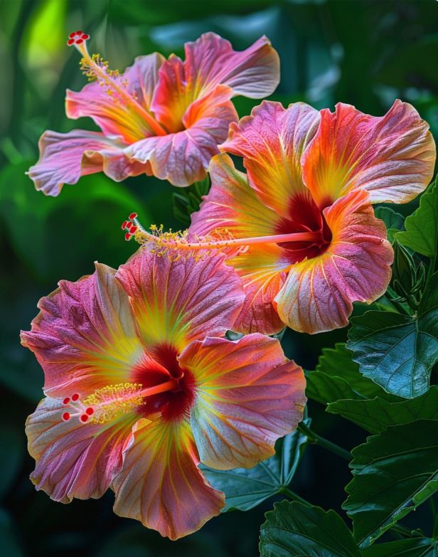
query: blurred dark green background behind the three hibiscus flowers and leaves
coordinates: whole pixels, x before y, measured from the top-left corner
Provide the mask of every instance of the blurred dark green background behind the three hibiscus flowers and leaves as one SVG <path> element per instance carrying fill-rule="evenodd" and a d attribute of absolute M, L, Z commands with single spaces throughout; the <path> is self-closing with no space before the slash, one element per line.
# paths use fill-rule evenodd
<path fill-rule="evenodd" d="M 181 228 L 166 182 L 139 176 L 115 184 L 88 176 L 46 198 L 24 174 L 38 156 L 47 128 L 93 129 L 64 114 L 65 88 L 85 78 L 68 33 L 91 34 L 90 50 L 123 70 L 135 56 L 182 55 L 183 43 L 215 31 L 246 48 L 265 33 L 282 60 L 272 99 L 304 100 L 317 108 L 338 101 L 382 115 L 396 97 L 412 102 L 438 134 L 438 2 L 436 0 L 0 0 L 0 553 L 18 556 L 254 557 L 263 514 L 272 501 L 247 513 L 229 513 L 202 531 L 171 543 L 135 521 L 112 514 L 112 494 L 68 506 L 37 493 L 28 480 L 26 416 L 41 398 L 43 373 L 18 341 L 36 303 L 62 279 L 92 272 L 94 260 L 117 267 L 133 252 L 120 223 L 137 211 L 144 223 Z M 256 102 L 237 99 L 240 116 Z M 400 210 L 400 208 L 398 209 Z M 404 208 L 411 211 L 412 206 Z M 358 308 L 356 311 L 360 311 Z M 288 331 L 289 356 L 313 368 L 323 346 L 346 331 L 307 336 Z M 346 448 L 365 433 L 316 403 L 314 429 Z M 304 455 L 294 490 L 324 508 L 340 506 L 350 472 L 319 447 Z M 415 516 L 421 522 L 422 511 Z M 345 516 L 345 515 L 343 515 Z"/>

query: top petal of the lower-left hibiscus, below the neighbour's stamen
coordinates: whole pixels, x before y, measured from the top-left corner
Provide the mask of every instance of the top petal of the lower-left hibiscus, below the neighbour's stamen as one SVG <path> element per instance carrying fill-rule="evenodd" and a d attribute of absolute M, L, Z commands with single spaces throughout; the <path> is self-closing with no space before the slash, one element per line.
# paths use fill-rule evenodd
<path fill-rule="evenodd" d="M 225 334 L 240 311 L 243 292 L 223 255 L 179 260 L 174 255 L 140 248 L 116 277 L 131 297 L 144 344 L 168 343 L 181 351 L 193 339 Z"/>

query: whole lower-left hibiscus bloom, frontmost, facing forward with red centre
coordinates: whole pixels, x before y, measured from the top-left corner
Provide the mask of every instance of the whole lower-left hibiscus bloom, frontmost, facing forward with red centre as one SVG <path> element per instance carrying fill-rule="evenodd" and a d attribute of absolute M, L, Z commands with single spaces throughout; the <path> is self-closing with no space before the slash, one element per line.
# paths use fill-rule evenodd
<path fill-rule="evenodd" d="M 141 248 L 116 272 L 61 281 L 22 342 L 45 373 L 26 423 L 31 479 L 55 501 L 100 497 L 171 539 L 220 512 L 199 462 L 252 467 L 302 418 L 303 371 L 279 341 L 223 338 L 243 302 L 222 254 Z"/>

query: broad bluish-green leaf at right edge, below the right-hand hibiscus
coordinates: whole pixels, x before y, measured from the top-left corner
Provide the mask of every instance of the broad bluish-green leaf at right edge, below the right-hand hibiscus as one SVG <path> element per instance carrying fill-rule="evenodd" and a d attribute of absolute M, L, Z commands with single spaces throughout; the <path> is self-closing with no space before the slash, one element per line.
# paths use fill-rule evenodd
<path fill-rule="evenodd" d="M 347 348 L 360 373 L 404 398 L 427 391 L 438 360 L 438 273 L 424 290 L 416 318 L 373 311 L 351 323 Z"/>

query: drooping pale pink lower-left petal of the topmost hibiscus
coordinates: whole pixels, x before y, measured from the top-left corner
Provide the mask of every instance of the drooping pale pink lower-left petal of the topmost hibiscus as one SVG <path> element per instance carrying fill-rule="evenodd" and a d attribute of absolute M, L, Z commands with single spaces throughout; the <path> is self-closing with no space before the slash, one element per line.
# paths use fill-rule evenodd
<path fill-rule="evenodd" d="M 148 164 L 131 161 L 123 144 L 100 132 L 74 129 L 67 134 L 45 132 L 39 142 L 40 159 L 28 171 L 37 190 L 58 196 L 63 184 L 76 184 L 80 176 L 104 171 L 115 181 L 150 174 Z"/>

